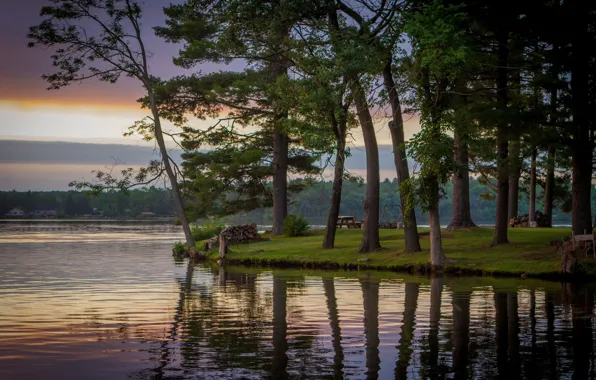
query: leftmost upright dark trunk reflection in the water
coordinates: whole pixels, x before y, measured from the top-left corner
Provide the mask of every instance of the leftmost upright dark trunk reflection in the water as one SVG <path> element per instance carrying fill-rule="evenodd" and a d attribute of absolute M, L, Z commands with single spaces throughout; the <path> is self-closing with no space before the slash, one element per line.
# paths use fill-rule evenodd
<path fill-rule="evenodd" d="M 273 357 L 272 379 L 287 378 L 288 340 L 287 334 L 287 284 L 285 278 L 273 275 Z"/>

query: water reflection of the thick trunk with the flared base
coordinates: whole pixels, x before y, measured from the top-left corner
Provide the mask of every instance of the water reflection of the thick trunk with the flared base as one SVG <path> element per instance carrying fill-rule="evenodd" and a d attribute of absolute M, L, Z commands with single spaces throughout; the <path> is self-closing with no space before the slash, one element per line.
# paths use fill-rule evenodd
<path fill-rule="evenodd" d="M 471 292 L 453 293 L 453 372 L 455 379 L 468 378 Z"/>

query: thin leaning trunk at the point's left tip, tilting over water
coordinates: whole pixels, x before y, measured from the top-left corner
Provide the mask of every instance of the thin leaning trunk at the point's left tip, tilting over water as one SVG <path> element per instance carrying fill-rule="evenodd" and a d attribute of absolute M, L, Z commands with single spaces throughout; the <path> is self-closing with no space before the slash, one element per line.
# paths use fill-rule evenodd
<path fill-rule="evenodd" d="M 191 249 L 194 249 L 195 239 L 192 236 L 192 232 L 190 231 L 190 224 L 188 223 L 186 213 L 184 212 L 184 201 L 182 200 L 180 186 L 178 186 L 178 177 L 176 176 L 176 173 L 172 168 L 172 164 L 170 162 L 170 155 L 168 154 L 168 149 L 166 148 L 166 143 L 163 138 L 163 130 L 161 129 L 161 119 L 159 116 L 157 103 L 155 101 L 155 95 L 153 94 L 153 89 L 150 85 L 145 84 L 145 87 L 147 88 L 147 93 L 149 95 L 149 105 L 151 107 L 151 113 L 153 115 L 153 124 L 155 126 L 155 141 L 157 141 L 159 153 L 161 155 L 166 174 L 170 181 L 170 186 L 172 186 L 172 194 L 174 196 L 174 207 L 176 207 L 176 213 L 178 214 L 178 218 L 180 218 L 180 224 L 182 225 L 182 230 L 184 231 L 186 245 Z"/>

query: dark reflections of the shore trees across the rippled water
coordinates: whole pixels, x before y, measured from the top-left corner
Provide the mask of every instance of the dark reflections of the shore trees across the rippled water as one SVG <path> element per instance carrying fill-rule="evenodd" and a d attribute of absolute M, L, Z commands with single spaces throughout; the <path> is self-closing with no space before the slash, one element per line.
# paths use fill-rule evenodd
<path fill-rule="evenodd" d="M 180 366 L 162 358 L 182 378 L 377 379 L 388 369 L 395 379 L 594 375 L 591 288 L 195 271 L 180 295 L 184 327 L 170 337 L 182 345 Z M 389 293 L 397 299 L 382 296 Z M 398 322 L 380 323 L 390 316 Z M 384 330 L 393 345 L 381 341 Z M 395 360 L 382 360 L 387 354 Z"/>

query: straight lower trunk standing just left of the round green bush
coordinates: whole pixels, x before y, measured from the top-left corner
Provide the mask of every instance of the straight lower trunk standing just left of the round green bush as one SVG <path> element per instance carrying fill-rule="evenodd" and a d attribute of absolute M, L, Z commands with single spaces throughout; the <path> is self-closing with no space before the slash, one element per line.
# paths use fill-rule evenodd
<path fill-rule="evenodd" d="M 271 235 L 284 232 L 288 216 L 288 136 L 273 132 L 273 228 Z"/>

